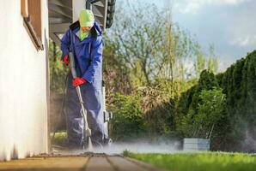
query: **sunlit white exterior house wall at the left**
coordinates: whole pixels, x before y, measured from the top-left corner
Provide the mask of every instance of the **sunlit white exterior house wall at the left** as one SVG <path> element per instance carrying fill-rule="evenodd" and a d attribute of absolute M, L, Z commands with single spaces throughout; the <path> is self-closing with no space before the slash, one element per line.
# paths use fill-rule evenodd
<path fill-rule="evenodd" d="M 41 1 L 42 42 L 36 50 L 20 0 L 0 2 L 0 160 L 47 152 L 47 1 Z"/>

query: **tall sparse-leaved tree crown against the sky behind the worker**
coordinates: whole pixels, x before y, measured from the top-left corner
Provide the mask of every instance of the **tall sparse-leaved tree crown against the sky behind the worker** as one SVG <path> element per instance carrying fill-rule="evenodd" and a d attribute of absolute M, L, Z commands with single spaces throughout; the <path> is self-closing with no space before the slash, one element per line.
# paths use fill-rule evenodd
<path fill-rule="evenodd" d="M 185 91 L 183 83 L 190 74 L 186 60 L 194 54 L 196 41 L 172 21 L 170 6 L 159 9 L 149 3 L 122 5 L 115 15 L 118 24 L 114 23 L 106 36 L 105 48 L 110 52 L 105 56 L 106 77 L 114 73 L 114 80 L 124 78 L 117 83 L 122 85 L 119 88 L 113 85 L 116 90 L 131 92 L 154 85 L 155 80 L 168 80 L 173 96 Z"/>

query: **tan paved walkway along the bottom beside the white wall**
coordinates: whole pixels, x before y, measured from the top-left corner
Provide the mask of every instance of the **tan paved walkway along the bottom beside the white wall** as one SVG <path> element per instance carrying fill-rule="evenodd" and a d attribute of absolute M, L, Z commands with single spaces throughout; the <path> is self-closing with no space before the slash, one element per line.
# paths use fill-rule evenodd
<path fill-rule="evenodd" d="M 41 156 L 10 162 L 0 162 L 0 170 L 27 171 L 145 171 L 160 170 L 144 162 L 122 156 L 84 155 L 84 156 Z"/>

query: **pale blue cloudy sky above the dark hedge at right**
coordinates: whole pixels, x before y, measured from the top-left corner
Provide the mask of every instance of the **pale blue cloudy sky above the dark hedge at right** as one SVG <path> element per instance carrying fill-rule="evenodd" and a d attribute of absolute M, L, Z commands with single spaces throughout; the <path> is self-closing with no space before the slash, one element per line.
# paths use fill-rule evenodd
<path fill-rule="evenodd" d="M 163 7 L 168 0 L 140 1 Z M 256 49 L 256 0 L 169 1 L 174 22 L 194 35 L 205 51 L 214 44 L 221 70 Z"/>

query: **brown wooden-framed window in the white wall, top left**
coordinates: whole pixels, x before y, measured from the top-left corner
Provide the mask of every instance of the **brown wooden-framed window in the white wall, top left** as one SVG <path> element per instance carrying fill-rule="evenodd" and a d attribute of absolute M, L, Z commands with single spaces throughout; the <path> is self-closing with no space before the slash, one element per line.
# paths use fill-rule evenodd
<path fill-rule="evenodd" d="M 24 26 L 32 38 L 37 50 L 44 50 L 41 35 L 41 1 L 21 0 L 21 15 L 24 19 Z"/>

